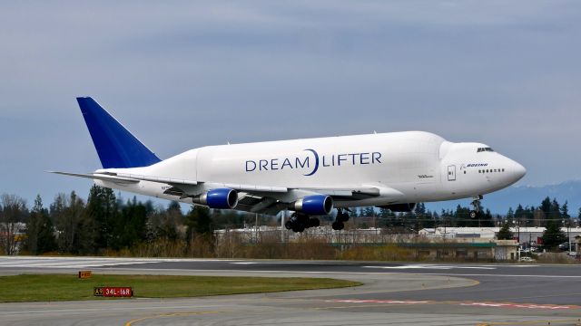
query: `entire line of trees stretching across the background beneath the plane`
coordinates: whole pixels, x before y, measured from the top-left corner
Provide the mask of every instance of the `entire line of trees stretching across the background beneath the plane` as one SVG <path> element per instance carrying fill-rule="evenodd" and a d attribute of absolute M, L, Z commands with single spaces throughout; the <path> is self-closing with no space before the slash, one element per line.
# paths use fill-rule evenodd
<path fill-rule="evenodd" d="M 387 208 L 353 209 L 350 227 L 376 226 L 393 234 L 417 234 L 422 228 L 441 226 L 547 226 L 557 230 L 562 221 L 571 225 L 568 204 L 545 198 L 539 206 L 509 208 L 494 216 L 480 207 L 478 218 L 469 207 L 430 211 L 419 203 L 413 212 L 395 213 Z M 579 209 L 581 216 L 581 208 Z M 258 217 L 258 220 L 257 220 Z M 323 218 L 330 223 L 333 216 Z M 211 256 L 213 231 L 247 225 L 281 225 L 280 218 L 191 206 L 186 214 L 177 202 L 154 206 L 152 201 L 123 200 L 112 189 L 91 187 L 87 200 L 72 192 L 59 194 L 49 206 L 40 196 L 32 208 L 15 195 L 0 197 L 0 250 L 15 254 L 17 244 L 26 254 L 135 254 Z M 503 235 L 504 236 L 504 235 Z M 171 251 L 171 252 L 170 252 Z"/>

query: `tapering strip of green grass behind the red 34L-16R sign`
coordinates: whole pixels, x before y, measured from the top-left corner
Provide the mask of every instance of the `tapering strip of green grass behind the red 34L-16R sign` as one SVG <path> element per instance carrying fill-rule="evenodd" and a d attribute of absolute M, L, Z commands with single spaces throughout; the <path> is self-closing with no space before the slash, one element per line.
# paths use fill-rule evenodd
<path fill-rule="evenodd" d="M 299 277 L 94 274 L 90 279 L 79 280 L 77 275 L 70 274 L 23 274 L 0 276 L 0 302 L 103 299 L 93 296 L 95 286 L 131 286 L 133 295 L 138 298 L 178 298 L 331 289 L 358 285 L 361 283 L 329 278 Z"/>

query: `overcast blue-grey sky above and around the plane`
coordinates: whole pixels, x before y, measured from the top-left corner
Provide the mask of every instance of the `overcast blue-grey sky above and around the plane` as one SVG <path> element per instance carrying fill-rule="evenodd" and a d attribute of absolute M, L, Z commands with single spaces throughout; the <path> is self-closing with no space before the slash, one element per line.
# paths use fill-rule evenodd
<path fill-rule="evenodd" d="M 45 204 L 100 168 L 75 97 L 159 157 L 398 130 L 581 178 L 578 1 L 0 2 L 0 193 Z"/>

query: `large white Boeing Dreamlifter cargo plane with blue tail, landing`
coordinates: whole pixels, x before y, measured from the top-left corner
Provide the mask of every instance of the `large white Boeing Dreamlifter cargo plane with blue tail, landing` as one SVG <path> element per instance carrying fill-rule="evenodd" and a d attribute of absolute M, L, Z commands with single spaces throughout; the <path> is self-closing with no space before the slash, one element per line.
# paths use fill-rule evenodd
<path fill-rule="evenodd" d="M 353 206 L 404 212 L 415 203 L 482 196 L 508 187 L 526 169 L 485 144 L 453 143 L 422 131 L 207 146 L 161 160 L 92 98 L 77 98 L 102 169 L 87 177 L 110 187 L 211 208 L 295 213 L 294 232 L 319 226 L 337 208 L 333 229 Z"/>

